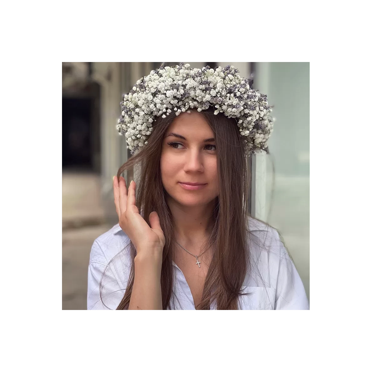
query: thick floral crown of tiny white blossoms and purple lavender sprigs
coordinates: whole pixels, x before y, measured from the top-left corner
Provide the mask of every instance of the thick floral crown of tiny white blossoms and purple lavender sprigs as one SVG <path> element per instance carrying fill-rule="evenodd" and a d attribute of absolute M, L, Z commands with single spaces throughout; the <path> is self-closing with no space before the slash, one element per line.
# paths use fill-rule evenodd
<path fill-rule="evenodd" d="M 265 151 L 274 118 L 267 96 L 251 89 L 253 80 L 237 75 L 234 66 L 190 68 L 189 64 L 169 67 L 162 64 L 150 75 L 142 77 L 121 102 L 122 114 L 116 128 L 126 137 L 134 154 L 147 145 L 156 116 L 166 118 L 172 110 L 180 113 L 197 108 L 199 112 L 215 108 L 235 118 L 248 154 Z"/>

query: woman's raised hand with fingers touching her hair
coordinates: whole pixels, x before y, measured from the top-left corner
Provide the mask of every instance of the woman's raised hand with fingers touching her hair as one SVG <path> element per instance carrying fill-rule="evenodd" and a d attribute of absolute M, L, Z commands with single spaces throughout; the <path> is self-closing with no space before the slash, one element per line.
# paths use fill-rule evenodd
<path fill-rule="evenodd" d="M 119 226 L 128 235 L 137 249 L 137 256 L 161 253 L 165 245 L 165 237 L 160 227 L 157 212 L 151 212 L 149 221 L 151 227 L 140 215 L 136 206 L 134 181 L 126 189 L 124 177 L 113 177 L 114 201 L 116 213 L 119 217 Z"/>

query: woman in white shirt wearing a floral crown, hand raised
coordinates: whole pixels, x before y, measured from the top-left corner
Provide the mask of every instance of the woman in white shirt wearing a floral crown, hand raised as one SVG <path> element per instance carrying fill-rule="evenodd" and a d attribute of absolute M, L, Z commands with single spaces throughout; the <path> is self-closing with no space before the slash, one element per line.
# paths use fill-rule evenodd
<path fill-rule="evenodd" d="M 247 212 L 247 157 L 273 119 L 237 72 L 161 67 L 124 96 L 134 156 L 113 179 L 119 224 L 92 246 L 88 309 L 308 309 L 278 232 Z"/>

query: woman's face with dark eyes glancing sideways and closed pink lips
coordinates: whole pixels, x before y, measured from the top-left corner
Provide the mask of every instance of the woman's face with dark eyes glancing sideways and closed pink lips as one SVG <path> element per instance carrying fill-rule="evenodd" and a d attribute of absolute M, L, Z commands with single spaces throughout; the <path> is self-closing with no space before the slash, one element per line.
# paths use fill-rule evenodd
<path fill-rule="evenodd" d="M 213 137 L 211 127 L 195 111 L 177 116 L 164 135 L 161 180 L 170 197 L 182 205 L 201 206 L 218 196 L 217 150 Z M 205 185 L 189 190 L 181 185 L 185 182 Z"/>

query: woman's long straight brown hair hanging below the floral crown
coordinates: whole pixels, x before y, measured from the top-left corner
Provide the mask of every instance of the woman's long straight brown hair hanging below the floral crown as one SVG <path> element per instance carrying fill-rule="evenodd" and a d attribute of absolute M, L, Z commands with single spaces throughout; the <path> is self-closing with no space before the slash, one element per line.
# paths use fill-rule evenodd
<path fill-rule="evenodd" d="M 215 200 L 210 244 L 215 247 L 211 264 L 205 279 L 201 302 L 197 310 L 209 310 L 217 302 L 218 310 L 238 310 L 241 286 L 250 270 L 247 223 L 248 190 L 251 174 L 248 171 L 248 155 L 243 137 L 235 119 L 224 114 L 214 115 L 213 108 L 201 111 L 214 132 L 217 146 L 217 171 L 219 196 Z M 149 214 L 156 211 L 165 236 L 163 263 L 161 267 L 161 295 L 163 310 L 170 307 L 173 293 L 173 217 L 166 203 L 166 191 L 161 182 L 160 155 L 164 134 L 175 112 L 166 118 L 157 118 L 148 144 L 132 156 L 118 170 L 119 177 L 125 170 L 141 166 L 140 178 L 136 183 L 136 204 L 149 224 Z M 131 270 L 125 294 L 116 310 L 128 310 L 134 283 L 134 257 L 136 250 L 130 241 Z M 115 258 L 115 257 L 114 257 Z M 102 282 L 102 279 L 101 279 Z M 100 283 L 101 288 L 101 283 Z M 102 299 L 102 296 L 101 296 Z"/>

